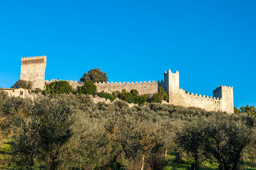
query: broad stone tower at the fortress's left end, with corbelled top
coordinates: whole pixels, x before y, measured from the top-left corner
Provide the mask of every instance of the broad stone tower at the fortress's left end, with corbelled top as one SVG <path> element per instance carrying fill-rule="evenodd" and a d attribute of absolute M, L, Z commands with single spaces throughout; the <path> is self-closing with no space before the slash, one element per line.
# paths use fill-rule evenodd
<path fill-rule="evenodd" d="M 33 82 L 33 89 L 45 88 L 46 56 L 21 58 L 20 79 Z"/>

